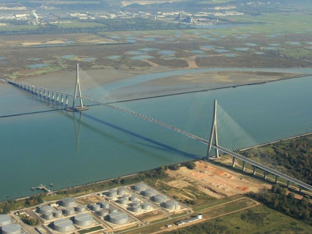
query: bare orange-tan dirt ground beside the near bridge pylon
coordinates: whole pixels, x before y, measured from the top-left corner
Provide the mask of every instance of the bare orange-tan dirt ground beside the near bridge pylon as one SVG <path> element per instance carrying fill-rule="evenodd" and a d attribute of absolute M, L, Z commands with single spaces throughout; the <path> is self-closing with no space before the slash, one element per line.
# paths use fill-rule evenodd
<path fill-rule="evenodd" d="M 254 180 L 249 180 L 246 176 L 224 168 L 221 169 L 205 161 L 198 161 L 195 170 L 181 167 L 178 171 L 169 170 L 168 173 L 171 177 L 177 178 L 168 183 L 171 186 L 185 187 L 189 183 L 187 179 L 191 179 L 202 185 L 202 191 L 216 198 L 243 194 L 248 191 L 261 192 L 271 187 L 269 184 L 255 183 Z"/>

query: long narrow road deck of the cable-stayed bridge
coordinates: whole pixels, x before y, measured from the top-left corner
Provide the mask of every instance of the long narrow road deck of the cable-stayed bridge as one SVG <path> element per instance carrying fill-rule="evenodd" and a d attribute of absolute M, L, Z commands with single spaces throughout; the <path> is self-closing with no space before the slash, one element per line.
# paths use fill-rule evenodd
<path fill-rule="evenodd" d="M 9 84 L 10 84 L 10 83 L 11 83 L 11 84 L 19 84 L 19 85 L 23 85 L 23 86 L 26 85 L 26 86 L 29 86 L 29 87 L 33 87 L 33 88 L 37 88 L 37 89 L 42 89 L 42 90 L 45 90 L 45 91 L 54 92 L 54 93 L 58 93 L 58 94 L 61 94 L 61 95 L 67 95 L 67 96 L 69 96 L 69 97 L 73 97 L 73 95 L 71 95 L 71 94 L 61 93 L 61 92 L 54 91 L 54 90 L 48 90 L 48 89 L 44 89 L 44 88 L 41 88 L 41 87 L 36 87 L 36 86 L 32 86 L 32 85 L 23 84 L 23 83 L 20 83 L 20 82 L 13 82 L 13 81 L 10 81 L 10 80 L 7 80 L 7 82 L 8 82 Z M 77 99 L 82 99 L 82 100 L 88 101 L 88 102 L 93 102 L 93 103 L 96 103 L 96 104 L 99 104 L 99 105 L 102 105 L 102 106 L 105 106 L 105 107 L 109 107 L 109 108 L 112 108 L 112 109 L 115 109 L 115 110 L 117 110 L 117 111 L 121 111 L 121 112 L 130 114 L 130 115 L 133 115 L 133 116 L 138 117 L 138 118 L 141 118 L 141 119 L 145 119 L 145 120 L 147 120 L 147 121 L 150 121 L 150 122 L 153 122 L 153 123 L 158 124 L 158 125 L 160 125 L 160 126 L 169 128 L 169 129 L 171 129 L 171 130 L 174 130 L 174 131 L 176 131 L 176 132 L 179 132 L 179 133 L 181 133 L 181 134 L 183 134 L 183 135 L 186 135 L 186 136 L 188 136 L 188 137 L 190 137 L 190 138 L 193 138 L 193 139 L 195 139 L 195 140 L 197 140 L 197 141 L 200 141 L 200 142 L 202 142 L 202 143 L 204 143 L 204 144 L 209 145 L 209 141 L 208 141 L 208 140 L 205 140 L 205 139 L 203 139 L 203 138 L 201 138 L 201 137 L 195 136 L 195 135 L 193 135 L 193 134 L 191 134 L 191 133 L 189 133 L 189 132 L 183 131 L 183 130 L 181 130 L 181 129 L 179 129 L 179 128 L 176 128 L 176 127 L 174 127 L 174 126 L 171 126 L 171 125 L 169 125 L 169 124 L 166 124 L 166 123 L 163 123 L 163 122 L 161 122 L 161 121 L 158 121 L 158 120 L 152 119 L 152 118 L 150 118 L 150 117 L 144 116 L 144 115 L 142 115 L 142 114 L 138 114 L 138 113 L 135 113 L 135 112 L 133 112 L 133 111 L 129 111 L 129 110 L 123 109 L 123 108 L 121 108 L 121 107 L 112 106 L 112 105 L 107 104 L 107 103 L 102 103 L 102 102 L 99 102 L 99 101 L 96 101 L 96 100 L 92 100 L 92 99 L 88 99 L 88 98 L 84 98 L 84 97 L 76 97 L 76 98 L 77 98 Z M 249 164 L 251 164 L 251 165 L 253 165 L 253 166 L 256 166 L 256 167 L 258 167 L 258 168 L 264 170 L 264 171 L 270 172 L 270 173 L 272 173 L 272 174 L 274 174 L 274 175 L 276 175 L 276 176 L 278 176 L 278 177 L 280 177 L 280 178 L 283 178 L 283 179 L 285 179 L 285 180 L 287 180 L 287 181 L 293 182 L 293 183 L 299 185 L 301 188 L 305 188 L 305 189 L 307 189 L 307 190 L 312 191 L 312 186 L 310 186 L 310 185 L 308 185 L 308 184 L 305 184 L 305 183 L 303 183 L 303 182 L 301 182 L 301 181 L 299 181 L 299 180 L 297 180 L 297 179 L 294 179 L 294 178 L 292 178 L 292 177 L 290 177 L 290 176 L 284 175 L 284 174 L 282 174 L 282 173 L 280 173 L 280 172 L 278 172 L 278 171 L 275 171 L 274 169 L 271 169 L 271 168 L 269 168 L 269 167 L 267 167 L 267 166 L 264 166 L 264 165 L 262 165 L 262 164 L 260 164 L 260 163 L 258 163 L 258 162 L 255 162 L 255 161 L 253 161 L 253 160 L 251 160 L 251 159 L 248 159 L 248 158 L 244 157 L 243 155 L 240 155 L 240 154 L 238 154 L 238 153 L 236 153 L 236 152 L 230 151 L 230 150 L 228 150 L 228 149 L 226 149 L 226 148 L 223 148 L 223 147 L 221 147 L 221 146 L 219 146 L 219 145 L 212 144 L 212 147 L 217 148 L 217 149 L 219 149 L 219 150 L 221 150 L 221 151 L 223 151 L 223 152 L 225 152 L 225 153 L 231 155 L 232 157 L 236 157 L 236 158 L 238 158 L 238 159 L 240 159 L 240 160 L 243 160 L 243 161 L 245 161 L 245 162 L 247 162 L 247 163 L 249 163 Z"/>

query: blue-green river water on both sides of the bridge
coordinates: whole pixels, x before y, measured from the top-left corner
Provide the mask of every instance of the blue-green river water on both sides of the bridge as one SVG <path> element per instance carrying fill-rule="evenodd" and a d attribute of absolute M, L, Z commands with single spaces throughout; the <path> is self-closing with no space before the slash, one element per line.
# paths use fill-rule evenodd
<path fill-rule="evenodd" d="M 303 68 L 276 71 L 312 73 Z M 181 72 L 145 75 L 143 80 Z M 137 76 L 107 89 L 140 81 Z M 207 138 L 217 99 L 257 142 L 265 143 L 312 131 L 311 87 L 312 76 L 306 76 L 120 105 Z M 31 188 L 39 184 L 53 183 L 56 190 L 198 159 L 207 150 L 191 138 L 110 108 L 71 113 L 13 86 L 0 83 L 0 90 L 0 116 L 9 116 L 0 118 L 0 200 L 32 195 Z M 30 112 L 38 113 L 17 115 Z"/>

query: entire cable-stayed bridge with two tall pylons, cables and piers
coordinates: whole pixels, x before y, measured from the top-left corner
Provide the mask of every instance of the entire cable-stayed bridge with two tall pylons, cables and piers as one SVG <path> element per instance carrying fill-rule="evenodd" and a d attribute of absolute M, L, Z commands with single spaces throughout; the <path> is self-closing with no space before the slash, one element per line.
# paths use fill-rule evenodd
<path fill-rule="evenodd" d="M 133 115 L 135 117 L 153 122 L 160 126 L 166 127 L 173 131 L 179 132 L 183 135 L 186 135 L 190 138 L 193 138 L 199 142 L 208 145 L 206 159 L 209 160 L 211 149 L 214 148 L 214 156 L 216 158 L 219 157 L 219 151 L 222 151 L 226 154 L 232 156 L 232 166 L 235 167 L 236 159 L 240 159 L 243 162 L 242 169 L 245 171 L 246 162 L 253 166 L 253 174 L 256 174 L 256 168 L 262 169 L 264 171 L 264 178 L 267 178 L 267 174 L 271 173 L 275 175 L 275 182 L 278 183 L 278 178 L 283 178 L 287 181 L 287 187 L 290 186 L 290 182 L 299 186 L 299 191 L 304 188 L 306 190 L 312 191 L 312 186 L 293 178 L 291 174 L 289 174 L 283 167 L 281 167 L 276 161 L 274 161 L 266 152 L 261 151 L 257 147 L 252 147 L 258 145 L 247 132 L 244 131 L 234 120 L 232 120 L 227 113 L 217 105 L 217 102 L 214 102 L 214 111 L 213 111 L 213 121 L 210 131 L 209 139 L 204 139 L 202 137 L 196 136 L 190 132 L 184 131 L 172 125 L 166 124 L 159 120 L 153 119 L 148 116 L 144 116 L 142 114 L 136 113 L 131 110 L 127 110 L 118 105 L 114 105 L 116 103 L 107 103 L 103 100 L 102 96 L 99 96 L 99 92 L 95 92 L 96 89 L 95 84 L 87 85 L 86 90 L 93 90 L 88 92 L 87 95 L 82 95 L 80 77 L 77 66 L 77 75 L 76 75 L 76 83 L 74 94 L 68 94 L 66 92 L 60 92 L 50 89 L 45 89 L 38 86 L 33 86 L 21 82 L 7 80 L 7 82 L 11 85 L 14 85 L 18 88 L 24 89 L 36 96 L 43 98 L 44 100 L 52 101 L 54 104 L 60 105 L 64 107 L 67 111 L 83 111 L 87 110 L 88 107 L 83 105 L 83 101 L 92 102 L 98 105 L 102 105 L 105 107 L 109 107 L 115 109 L 117 111 L 125 112 L 127 114 Z M 85 86 L 83 86 L 85 91 Z M 72 100 L 72 105 L 69 105 L 69 101 Z M 76 106 L 76 101 L 79 101 L 79 105 Z M 247 136 L 247 137 L 246 137 Z M 244 149 L 244 150 L 242 150 Z"/>

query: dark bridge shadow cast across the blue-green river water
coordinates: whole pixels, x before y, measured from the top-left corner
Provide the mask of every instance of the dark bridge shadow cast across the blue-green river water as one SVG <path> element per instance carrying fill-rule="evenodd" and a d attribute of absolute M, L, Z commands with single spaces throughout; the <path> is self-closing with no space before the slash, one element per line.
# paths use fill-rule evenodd
<path fill-rule="evenodd" d="M 115 124 L 112 124 L 112 123 L 109 123 L 109 122 L 107 122 L 107 121 L 101 120 L 101 119 L 99 119 L 99 118 L 97 118 L 97 117 L 94 117 L 94 116 L 91 116 L 91 115 L 89 115 L 89 114 L 84 113 L 83 116 L 85 116 L 85 117 L 87 117 L 87 118 L 89 118 L 89 119 L 92 119 L 92 120 L 94 120 L 94 121 L 96 121 L 96 122 L 98 122 L 98 123 L 101 123 L 101 124 L 104 124 L 104 125 L 109 126 L 109 127 L 111 127 L 111 128 L 114 128 L 114 129 L 116 129 L 116 130 L 119 130 L 119 131 L 121 131 L 121 132 L 124 132 L 124 133 L 126 133 L 126 134 L 128 134 L 128 135 L 131 135 L 131 136 L 137 137 L 137 138 L 139 138 L 139 139 L 142 139 L 142 140 L 144 140 L 144 141 L 147 141 L 147 142 L 149 142 L 149 143 L 152 143 L 152 144 L 154 144 L 154 145 L 156 145 L 156 146 L 153 146 L 153 145 L 150 145 L 150 144 L 144 144 L 144 143 L 139 143 L 139 142 L 132 141 L 132 142 L 135 143 L 135 144 L 140 144 L 140 145 L 144 145 L 144 146 L 147 146 L 147 147 L 151 147 L 151 148 L 154 148 L 154 149 L 157 149 L 157 150 L 163 150 L 163 151 L 167 151 L 167 152 L 170 152 L 170 153 L 175 153 L 175 154 L 178 154 L 178 155 L 182 155 L 182 156 L 184 156 L 184 157 L 188 157 L 188 158 L 190 158 L 190 159 L 199 159 L 199 158 L 202 158 L 201 155 L 196 155 L 196 154 L 192 154 L 192 153 L 188 153 L 188 152 L 182 151 L 182 150 L 177 149 L 177 148 L 175 148 L 175 147 L 172 147 L 172 146 L 170 146 L 170 145 L 168 145 L 168 144 L 164 144 L 164 143 L 162 143 L 162 142 L 159 142 L 159 141 L 153 140 L 153 139 L 151 139 L 151 138 L 148 138 L 148 137 L 146 137 L 146 136 L 140 135 L 140 134 L 138 134 L 138 133 L 132 132 L 132 131 L 130 131 L 130 130 L 121 128 L 121 127 L 119 127 L 119 126 L 117 126 L 117 125 L 115 125 Z"/>

